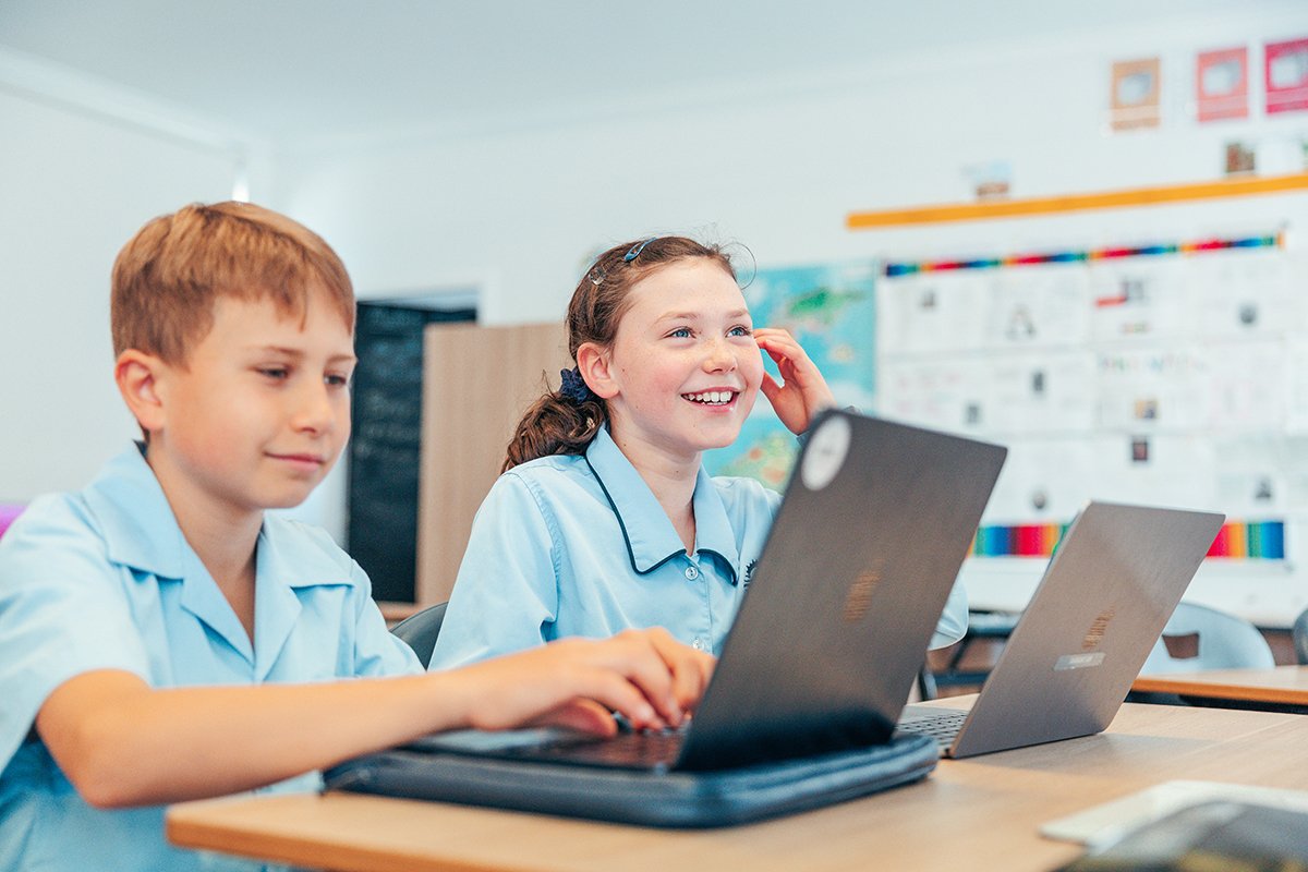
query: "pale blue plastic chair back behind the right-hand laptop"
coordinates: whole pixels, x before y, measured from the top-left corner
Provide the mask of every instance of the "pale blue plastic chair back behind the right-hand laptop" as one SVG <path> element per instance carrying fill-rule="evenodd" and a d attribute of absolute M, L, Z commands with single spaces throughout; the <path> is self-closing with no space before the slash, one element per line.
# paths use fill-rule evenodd
<path fill-rule="evenodd" d="M 1172 639 L 1176 647 L 1192 647 L 1190 643 L 1197 642 L 1197 652 L 1194 656 L 1173 656 L 1168 652 L 1167 639 Z M 1277 660 L 1271 647 L 1253 624 L 1206 605 L 1181 603 L 1163 628 L 1163 635 L 1154 643 L 1141 675 L 1262 669 L 1274 665 Z"/>

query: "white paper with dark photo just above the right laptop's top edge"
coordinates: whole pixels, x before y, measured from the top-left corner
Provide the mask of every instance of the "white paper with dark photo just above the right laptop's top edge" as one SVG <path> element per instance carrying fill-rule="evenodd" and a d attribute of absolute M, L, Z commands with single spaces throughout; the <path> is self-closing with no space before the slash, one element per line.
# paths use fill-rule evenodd
<path fill-rule="evenodd" d="M 1201 437 L 1101 434 L 1095 439 L 1095 499 L 1222 510 L 1215 452 Z"/>

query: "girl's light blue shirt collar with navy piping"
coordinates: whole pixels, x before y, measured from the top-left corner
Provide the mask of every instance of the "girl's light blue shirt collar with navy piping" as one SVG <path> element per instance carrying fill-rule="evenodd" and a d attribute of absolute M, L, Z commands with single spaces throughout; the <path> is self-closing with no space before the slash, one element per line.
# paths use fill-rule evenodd
<path fill-rule="evenodd" d="M 586 448 L 586 464 L 608 498 L 627 543 L 632 569 L 644 575 L 667 561 L 685 553 L 685 545 L 645 480 L 600 428 Z M 695 545 L 698 552 L 712 552 L 721 557 L 736 583 L 739 552 L 735 532 L 727 522 L 722 497 L 704 467 L 695 478 Z"/>

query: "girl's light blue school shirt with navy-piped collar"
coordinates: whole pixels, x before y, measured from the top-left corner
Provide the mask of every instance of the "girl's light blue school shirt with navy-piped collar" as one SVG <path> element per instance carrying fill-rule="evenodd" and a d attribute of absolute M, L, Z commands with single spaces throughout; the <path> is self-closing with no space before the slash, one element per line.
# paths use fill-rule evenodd
<path fill-rule="evenodd" d="M 687 553 L 607 429 L 585 455 L 514 467 L 477 510 L 430 668 L 649 626 L 721 654 L 780 503 L 753 480 L 701 467 Z M 931 647 L 965 630 L 967 596 L 955 586 Z"/>

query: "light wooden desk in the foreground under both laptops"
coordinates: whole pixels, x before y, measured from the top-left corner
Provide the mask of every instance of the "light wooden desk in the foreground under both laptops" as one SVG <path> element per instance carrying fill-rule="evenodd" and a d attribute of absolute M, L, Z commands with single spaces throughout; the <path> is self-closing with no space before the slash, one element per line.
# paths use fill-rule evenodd
<path fill-rule="evenodd" d="M 1042 839 L 1042 822 L 1171 779 L 1308 788 L 1308 718 L 1125 705 L 1099 736 L 942 761 L 917 784 L 723 830 L 327 794 L 175 805 L 167 833 L 184 847 L 348 872 L 1046 871 L 1080 850 Z"/>

